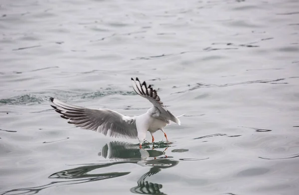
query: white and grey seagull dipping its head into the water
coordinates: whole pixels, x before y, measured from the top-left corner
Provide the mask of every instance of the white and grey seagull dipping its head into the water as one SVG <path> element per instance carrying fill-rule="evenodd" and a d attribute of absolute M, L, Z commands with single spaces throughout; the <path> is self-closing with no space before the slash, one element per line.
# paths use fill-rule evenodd
<path fill-rule="evenodd" d="M 68 123 L 74 124 L 76 127 L 101 132 L 105 136 L 108 134 L 110 137 L 138 138 L 140 148 L 146 139 L 147 131 L 152 137 L 152 143 L 154 141 L 153 133 L 158 130 L 164 133 L 168 142 L 164 127 L 170 121 L 180 125 L 178 119 L 180 116 L 174 116 L 166 109 L 151 85 L 147 86 L 145 81 L 141 84 L 138 78 L 136 80 L 131 78 L 131 82 L 134 91 L 152 103 L 152 107 L 146 113 L 138 116 L 126 116 L 107 108 L 93 109 L 71 105 L 57 98 L 50 98 L 54 104 L 51 106 L 61 114 L 62 118 L 69 120 Z"/>

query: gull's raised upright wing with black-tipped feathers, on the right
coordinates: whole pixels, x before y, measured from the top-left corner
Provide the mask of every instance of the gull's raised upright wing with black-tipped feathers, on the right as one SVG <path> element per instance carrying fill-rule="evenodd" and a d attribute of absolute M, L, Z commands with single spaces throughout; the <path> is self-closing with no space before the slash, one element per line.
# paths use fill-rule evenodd
<path fill-rule="evenodd" d="M 164 120 L 167 123 L 169 120 L 171 120 L 176 124 L 180 124 L 179 119 L 165 108 L 163 102 L 160 100 L 160 97 L 157 95 L 157 92 L 153 90 L 150 85 L 147 86 L 145 81 L 141 84 L 138 78 L 136 78 L 136 80 L 131 78 L 131 81 L 134 91 L 138 95 L 147 98 L 153 104 L 153 106 L 159 110 L 159 116 L 157 117 L 158 119 Z"/>

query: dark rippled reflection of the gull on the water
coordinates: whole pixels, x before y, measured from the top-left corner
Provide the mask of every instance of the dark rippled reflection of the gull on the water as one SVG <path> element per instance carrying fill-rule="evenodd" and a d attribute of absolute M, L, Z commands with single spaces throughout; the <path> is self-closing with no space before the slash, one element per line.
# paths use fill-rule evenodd
<path fill-rule="evenodd" d="M 168 145 L 158 144 L 154 148 L 165 148 Z M 165 150 L 164 150 L 165 151 Z M 89 172 L 106 168 L 118 164 L 133 163 L 144 167 L 151 167 L 149 172 L 144 174 L 137 182 L 138 186 L 131 188 L 132 193 L 146 194 L 146 195 L 164 195 L 160 192 L 162 188 L 161 184 L 154 184 L 146 181 L 146 179 L 154 174 L 157 174 L 162 169 L 170 168 L 178 164 L 178 161 L 170 159 L 164 154 L 164 151 L 155 149 L 139 149 L 139 145 L 131 144 L 127 142 L 113 141 L 106 144 L 102 151 L 99 152 L 99 156 L 106 159 L 112 159 L 108 163 L 102 164 L 85 164 L 73 169 L 63 170 L 56 172 L 49 176 L 50 179 L 67 179 L 63 181 L 51 182 L 47 185 L 37 186 L 32 188 L 14 189 L 2 193 L 1 195 L 33 195 L 39 193 L 43 189 L 47 189 L 55 186 L 82 184 L 87 182 L 94 182 L 99 180 L 106 180 L 110 178 L 121 177 L 130 174 L 131 172 L 112 172 L 102 174 L 89 174 Z"/>

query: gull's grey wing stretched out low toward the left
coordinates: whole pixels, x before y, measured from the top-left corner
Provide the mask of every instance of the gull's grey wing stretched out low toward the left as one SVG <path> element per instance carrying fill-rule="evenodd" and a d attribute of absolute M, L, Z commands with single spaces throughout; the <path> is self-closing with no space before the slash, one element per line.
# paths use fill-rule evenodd
<path fill-rule="evenodd" d="M 62 118 L 76 127 L 101 132 L 111 137 L 137 138 L 135 118 L 125 116 L 110 109 L 90 109 L 71 105 L 56 98 L 50 98 L 51 105 Z"/>

